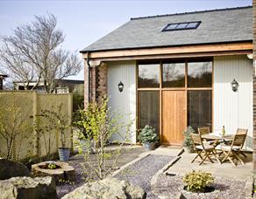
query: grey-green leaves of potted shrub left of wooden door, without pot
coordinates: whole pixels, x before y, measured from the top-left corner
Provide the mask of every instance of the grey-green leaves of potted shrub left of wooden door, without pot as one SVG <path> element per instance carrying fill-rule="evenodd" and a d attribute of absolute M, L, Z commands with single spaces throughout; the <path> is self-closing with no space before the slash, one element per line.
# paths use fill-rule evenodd
<path fill-rule="evenodd" d="M 158 139 L 155 129 L 149 125 L 146 125 L 139 133 L 139 141 L 141 143 L 153 143 Z"/>

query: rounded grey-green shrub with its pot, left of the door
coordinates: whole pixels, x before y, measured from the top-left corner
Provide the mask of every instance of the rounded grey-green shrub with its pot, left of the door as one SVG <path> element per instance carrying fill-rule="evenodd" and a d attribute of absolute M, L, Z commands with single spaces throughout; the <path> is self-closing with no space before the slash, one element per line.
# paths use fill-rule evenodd
<path fill-rule="evenodd" d="M 146 125 L 139 133 L 139 141 L 143 143 L 144 148 L 153 150 L 154 143 L 158 141 L 158 134 L 153 127 Z"/>

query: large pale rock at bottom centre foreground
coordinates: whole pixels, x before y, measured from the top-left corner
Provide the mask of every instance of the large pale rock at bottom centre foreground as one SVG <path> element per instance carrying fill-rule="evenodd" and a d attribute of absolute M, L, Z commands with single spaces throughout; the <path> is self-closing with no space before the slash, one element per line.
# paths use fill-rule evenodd
<path fill-rule="evenodd" d="M 89 182 L 75 189 L 62 199 L 144 199 L 146 193 L 138 186 L 116 178 L 106 178 L 103 181 Z"/>

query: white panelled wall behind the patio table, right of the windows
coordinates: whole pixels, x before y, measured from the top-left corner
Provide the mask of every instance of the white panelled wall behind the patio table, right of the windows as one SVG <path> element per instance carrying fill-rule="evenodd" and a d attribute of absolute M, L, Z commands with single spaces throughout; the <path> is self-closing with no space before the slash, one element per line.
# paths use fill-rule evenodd
<path fill-rule="evenodd" d="M 231 81 L 238 81 L 238 92 Z M 214 58 L 214 130 L 223 126 L 229 134 L 248 128 L 246 146 L 252 145 L 252 60 L 246 55 Z"/>

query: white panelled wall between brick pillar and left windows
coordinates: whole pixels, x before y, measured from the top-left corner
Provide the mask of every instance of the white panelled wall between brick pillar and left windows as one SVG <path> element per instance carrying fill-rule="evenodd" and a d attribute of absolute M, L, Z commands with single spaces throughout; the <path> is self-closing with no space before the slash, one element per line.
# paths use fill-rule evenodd
<path fill-rule="evenodd" d="M 118 61 L 108 62 L 108 95 L 110 97 L 109 106 L 111 110 L 124 113 L 125 122 L 133 120 L 132 143 L 136 143 L 136 62 Z M 118 91 L 118 83 L 122 81 L 124 91 Z M 124 129 L 123 129 L 124 133 Z M 119 136 L 113 136 L 112 141 L 120 140 Z"/>

